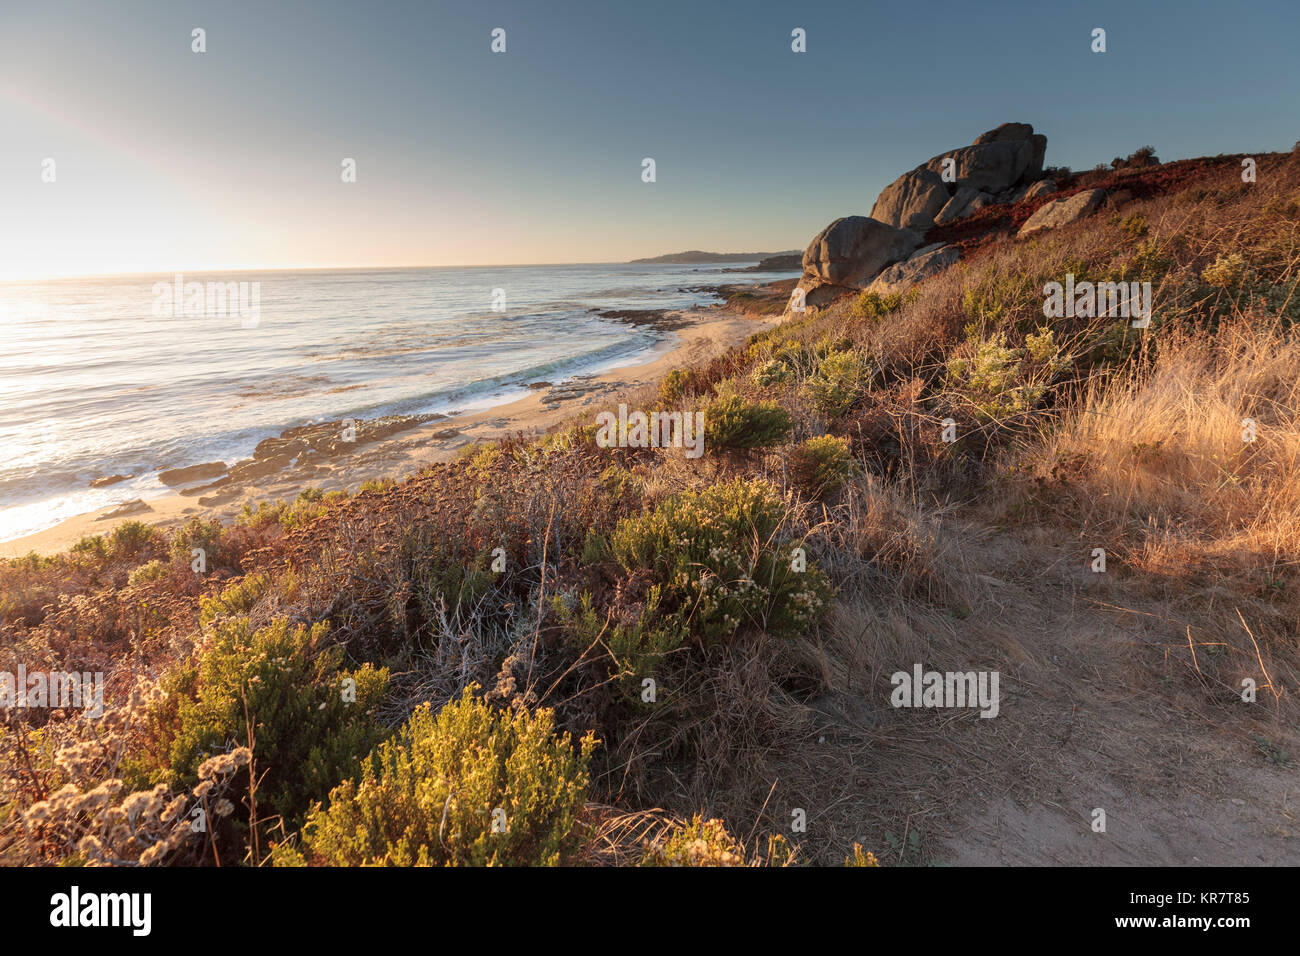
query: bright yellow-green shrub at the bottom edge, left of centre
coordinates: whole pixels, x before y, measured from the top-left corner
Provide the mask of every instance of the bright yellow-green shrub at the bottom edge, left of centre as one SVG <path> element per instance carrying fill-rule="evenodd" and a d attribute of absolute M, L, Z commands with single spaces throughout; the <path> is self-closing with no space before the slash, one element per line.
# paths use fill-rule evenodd
<path fill-rule="evenodd" d="M 303 827 L 332 866 L 552 866 L 576 843 L 595 740 L 575 750 L 550 710 L 495 711 L 471 696 L 416 709 Z M 503 813 L 497 813 L 503 812 Z"/>

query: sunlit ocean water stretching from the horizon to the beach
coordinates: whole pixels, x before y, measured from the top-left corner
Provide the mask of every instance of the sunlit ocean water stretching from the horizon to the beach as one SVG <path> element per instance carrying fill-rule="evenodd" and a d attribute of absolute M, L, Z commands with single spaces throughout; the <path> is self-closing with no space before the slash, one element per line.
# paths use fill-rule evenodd
<path fill-rule="evenodd" d="M 725 272 L 753 264 L 185 276 L 248 282 L 255 319 L 234 289 L 187 313 L 172 274 L 0 282 L 0 541 L 165 494 L 161 470 L 247 458 L 292 425 L 477 410 L 649 360 L 671 333 L 593 310 L 710 304 L 692 287 L 790 274 Z M 88 486 L 109 475 L 134 477 Z"/>

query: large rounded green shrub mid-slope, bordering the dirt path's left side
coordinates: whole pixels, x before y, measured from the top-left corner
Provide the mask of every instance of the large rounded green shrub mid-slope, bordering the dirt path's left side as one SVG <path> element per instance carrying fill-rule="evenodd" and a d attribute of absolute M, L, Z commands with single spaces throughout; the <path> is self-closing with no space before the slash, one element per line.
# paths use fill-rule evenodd
<path fill-rule="evenodd" d="M 784 515 L 768 483 L 736 480 L 619 522 L 610 546 L 628 572 L 654 575 L 666 613 L 702 640 L 746 626 L 792 636 L 816 619 L 829 588 L 777 540 Z"/>

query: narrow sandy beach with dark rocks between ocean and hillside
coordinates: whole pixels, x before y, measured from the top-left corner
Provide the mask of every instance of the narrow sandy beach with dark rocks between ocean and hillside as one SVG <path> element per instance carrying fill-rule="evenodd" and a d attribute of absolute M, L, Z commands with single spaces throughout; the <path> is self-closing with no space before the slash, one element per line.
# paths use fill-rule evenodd
<path fill-rule="evenodd" d="M 655 321 L 662 323 L 676 341 L 670 339 L 671 347 L 662 349 L 649 362 L 571 376 L 545 392 L 538 389 L 502 405 L 415 424 L 358 445 L 347 454 L 295 464 L 277 473 L 231 483 L 224 489 L 177 490 L 140 501 L 134 509 L 130 507 L 134 502 L 127 502 L 74 515 L 44 531 L 0 542 L 0 558 L 65 551 L 86 535 L 103 535 L 129 520 L 173 528 L 199 516 L 226 524 L 242 514 L 244 505 L 256 507 L 260 502 L 289 501 L 306 488 L 351 493 L 364 481 L 400 480 L 428 464 L 451 460 L 467 445 L 495 441 L 516 432 L 541 434 L 585 406 L 656 384 L 670 369 L 711 359 L 780 319 L 755 317 L 719 304 L 664 310 Z M 213 490 L 217 493 L 200 497 Z"/>

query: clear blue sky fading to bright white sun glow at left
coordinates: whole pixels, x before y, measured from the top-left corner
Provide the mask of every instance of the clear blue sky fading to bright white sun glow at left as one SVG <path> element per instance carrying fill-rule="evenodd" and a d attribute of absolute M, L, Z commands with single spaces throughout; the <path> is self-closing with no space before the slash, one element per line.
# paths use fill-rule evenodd
<path fill-rule="evenodd" d="M 1290 150 L 1297 40 L 1296 0 L 0 0 L 0 280 L 802 248 L 1001 122 Z"/>

